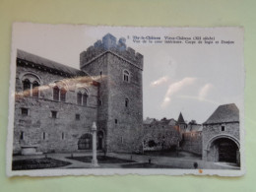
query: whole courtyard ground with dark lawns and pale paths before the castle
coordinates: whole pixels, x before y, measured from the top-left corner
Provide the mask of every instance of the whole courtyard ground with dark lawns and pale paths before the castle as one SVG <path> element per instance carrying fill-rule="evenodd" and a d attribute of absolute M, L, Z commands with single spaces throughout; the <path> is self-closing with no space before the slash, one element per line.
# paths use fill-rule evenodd
<path fill-rule="evenodd" d="M 185 169 L 238 169 L 232 163 L 201 160 L 188 152 L 147 152 L 143 155 L 97 153 L 98 166 L 92 165 L 92 153 L 43 154 L 14 156 L 13 170 L 42 168 L 185 168 Z"/>

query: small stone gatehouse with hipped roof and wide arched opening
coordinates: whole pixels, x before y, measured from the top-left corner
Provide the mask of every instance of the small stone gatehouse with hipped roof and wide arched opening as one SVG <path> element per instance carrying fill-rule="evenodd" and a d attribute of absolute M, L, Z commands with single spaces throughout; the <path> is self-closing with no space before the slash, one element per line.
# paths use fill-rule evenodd
<path fill-rule="evenodd" d="M 220 105 L 203 124 L 203 160 L 240 164 L 239 109 Z"/>

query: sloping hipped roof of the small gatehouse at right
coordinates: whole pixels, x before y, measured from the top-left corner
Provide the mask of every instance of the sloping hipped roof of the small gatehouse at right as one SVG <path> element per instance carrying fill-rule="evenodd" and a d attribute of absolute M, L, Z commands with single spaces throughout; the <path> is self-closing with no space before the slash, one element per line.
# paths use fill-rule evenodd
<path fill-rule="evenodd" d="M 204 124 L 239 122 L 239 109 L 234 103 L 220 105 Z"/>

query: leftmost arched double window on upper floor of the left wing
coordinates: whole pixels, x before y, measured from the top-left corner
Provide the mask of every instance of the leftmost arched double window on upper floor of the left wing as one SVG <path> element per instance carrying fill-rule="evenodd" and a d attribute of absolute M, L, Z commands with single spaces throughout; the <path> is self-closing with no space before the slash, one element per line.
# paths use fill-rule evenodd
<path fill-rule="evenodd" d="M 40 97 L 40 86 L 42 85 L 41 78 L 32 71 L 27 71 L 22 73 L 19 77 L 22 83 L 23 95 L 24 96 L 33 96 Z M 25 89 L 25 82 L 29 84 L 29 89 Z M 28 91 L 28 92 L 26 92 Z"/>

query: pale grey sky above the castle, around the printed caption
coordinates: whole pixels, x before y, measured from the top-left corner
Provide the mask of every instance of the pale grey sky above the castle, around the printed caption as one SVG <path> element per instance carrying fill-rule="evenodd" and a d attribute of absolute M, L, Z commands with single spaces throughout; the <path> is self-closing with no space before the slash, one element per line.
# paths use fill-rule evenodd
<path fill-rule="evenodd" d="M 106 33 L 144 55 L 144 118 L 205 122 L 225 103 L 243 108 L 243 31 L 238 28 L 132 28 L 17 23 L 13 26 L 12 65 L 17 48 L 79 69 L 79 55 Z M 138 43 L 134 36 L 215 37 L 218 44 Z M 176 39 L 177 40 L 177 39 Z M 232 44 L 220 43 L 222 40 Z M 189 40 L 191 42 L 191 40 Z M 11 67 L 12 68 L 12 67 Z"/>

